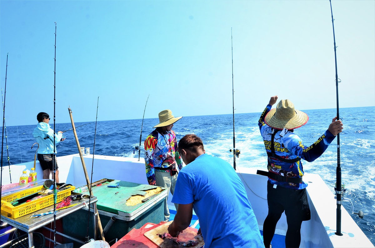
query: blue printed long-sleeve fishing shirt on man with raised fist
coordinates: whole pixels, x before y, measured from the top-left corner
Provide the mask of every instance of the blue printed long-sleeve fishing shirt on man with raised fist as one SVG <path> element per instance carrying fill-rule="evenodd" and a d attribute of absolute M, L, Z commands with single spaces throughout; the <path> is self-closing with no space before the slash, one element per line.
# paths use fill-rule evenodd
<path fill-rule="evenodd" d="M 267 105 L 258 121 L 260 133 L 262 134 L 264 145 L 266 146 L 268 155 L 271 154 L 271 135 L 274 130 L 264 122 L 264 118 L 271 110 L 271 107 L 271 105 Z M 300 137 L 298 137 L 292 131 L 287 131 L 284 136 L 281 136 L 280 133 L 281 132 L 275 134 L 275 138 L 273 141 L 276 155 L 291 160 L 300 157 L 308 162 L 312 162 L 320 157 L 320 155 L 322 155 L 323 152 L 326 151 L 329 144 L 336 137 L 327 130 L 311 146 L 306 146 L 302 143 Z M 288 176 L 293 178 L 300 178 L 304 174 L 301 160 L 295 163 L 288 163 L 269 156 L 267 169 L 271 173 L 276 173 L 281 176 Z M 305 182 L 295 184 L 291 182 L 279 182 L 271 178 L 268 178 L 268 181 L 272 184 L 280 185 L 285 188 L 292 188 L 295 190 L 300 190 L 307 187 L 307 184 Z"/>

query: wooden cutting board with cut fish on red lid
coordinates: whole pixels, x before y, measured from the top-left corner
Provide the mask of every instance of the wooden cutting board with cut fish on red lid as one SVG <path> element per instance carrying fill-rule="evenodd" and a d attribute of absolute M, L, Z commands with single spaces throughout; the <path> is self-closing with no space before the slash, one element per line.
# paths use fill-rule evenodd
<path fill-rule="evenodd" d="M 170 239 L 162 239 L 157 234 L 163 234 L 168 233 L 168 226 L 173 221 L 169 221 L 165 224 L 162 224 L 158 227 L 155 227 L 154 229 L 145 232 L 144 236 L 146 236 L 148 239 L 150 239 L 154 244 L 158 245 L 160 248 L 177 248 L 181 247 L 176 242 L 170 240 Z M 191 235 L 191 239 L 198 241 L 198 245 L 193 246 L 193 248 L 201 248 L 204 245 L 204 241 L 201 235 L 197 235 L 194 230 L 191 230 L 189 227 L 185 230 L 183 230 L 183 233 L 189 236 Z"/>

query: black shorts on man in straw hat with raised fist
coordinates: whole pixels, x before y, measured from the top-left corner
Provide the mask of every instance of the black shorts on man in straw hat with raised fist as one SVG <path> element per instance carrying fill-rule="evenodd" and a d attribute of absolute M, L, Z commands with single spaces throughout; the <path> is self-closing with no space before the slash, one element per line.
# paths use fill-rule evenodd
<path fill-rule="evenodd" d="M 285 211 L 287 218 L 292 217 L 300 221 L 311 219 L 306 188 L 293 190 L 280 185 L 273 188 L 273 184 L 268 182 L 267 202 L 269 214 L 282 214 Z"/>

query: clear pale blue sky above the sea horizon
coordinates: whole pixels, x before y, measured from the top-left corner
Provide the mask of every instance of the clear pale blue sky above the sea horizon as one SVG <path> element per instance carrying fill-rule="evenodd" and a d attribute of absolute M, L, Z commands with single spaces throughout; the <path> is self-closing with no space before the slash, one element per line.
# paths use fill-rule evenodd
<path fill-rule="evenodd" d="M 340 108 L 375 105 L 375 1 L 333 0 Z M 6 125 L 336 108 L 329 0 L 0 0 Z M 52 122 L 52 120 L 51 120 Z"/>

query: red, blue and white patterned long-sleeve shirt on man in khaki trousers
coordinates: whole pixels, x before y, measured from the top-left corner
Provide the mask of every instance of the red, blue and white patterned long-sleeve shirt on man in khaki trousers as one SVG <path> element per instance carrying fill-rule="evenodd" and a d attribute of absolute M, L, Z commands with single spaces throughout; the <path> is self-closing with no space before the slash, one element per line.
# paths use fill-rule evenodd
<path fill-rule="evenodd" d="M 170 173 L 170 170 L 158 170 L 155 167 L 167 168 L 176 163 L 178 169 L 182 169 L 182 160 L 177 150 L 177 139 L 174 131 L 171 130 L 167 134 L 160 134 L 155 129 L 145 139 L 144 150 L 148 184 L 156 185 L 155 171 Z"/>

